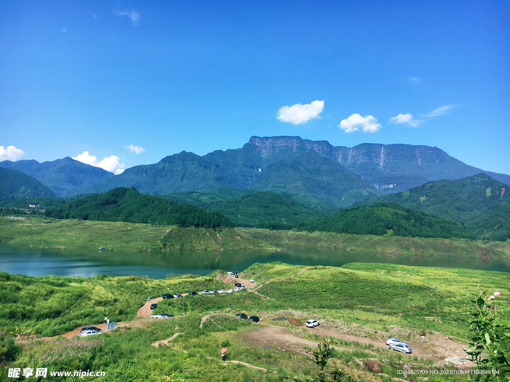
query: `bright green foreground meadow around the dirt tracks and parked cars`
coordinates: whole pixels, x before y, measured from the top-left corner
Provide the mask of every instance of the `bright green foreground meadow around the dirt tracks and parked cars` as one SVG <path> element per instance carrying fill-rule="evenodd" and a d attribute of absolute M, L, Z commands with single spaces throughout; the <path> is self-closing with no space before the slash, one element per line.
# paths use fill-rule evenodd
<path fill-rule="evenodd" d="M 145 328 L 119 328 L 93 339 L 37 339 L 100 323 L 105 315 L 115 321 L 131 320 L 147 295 L 230 287 L 219 281 L 218 275 L 224 272 L 158 280 L 113 276 L 35 278 L 0 272 L 0 332 L 4 333 L 0 333 L 0 360 L 6 358 L 0 365 L 0 380 L 7 378 L 7 368 L 12 367 L 103 370 L 107 371 L 106 377 L 97 380 L 125 381 L 282 381 L 294 376 L 311 377 L 317 371 L 311 358 L 304 354 L 264 349 L 243 341 L 245 334 L 249 336 L 259 326 L 238 320 L 234 316 L 237 311 L 258 315 L 301 311 L 307 313 L 298 317 L 300 321 L 312 315 L 348 333 L 355 325 L 362 337 L 387 338 L 398 333 L 400 339 L 411 340 L 422 333 L 440 332 L 462 342 L 470 337 L 464 314 L 473 309 L 468 300 L 481 289 L 501 292 L 493 302 L 499 306 L 502 322 L 509 321 L 510 280 L 502 272 L 375 263 L 303 267 L 277 262 L 253 264 L 241 272 L 242 278 L 258 282 L 259 293 L 245 290 L 185 296 L 165 300 L 155 311 L 175 315 L 188 312 L 185 317 L 155 321 Z M 228 309 L 230 305 L 234 309 Z M 200 328 L 201 317 L 211 312 L 219 314 Z M 381 318 L 384 322 L 379 321 Z M 397 329 L 399 332 L 395 332 Z M 181 334 L 169 346 L 151 346 L 176 333 Z M 293 333 L 314 341 L 324 340 L 300 328 Z M 9 338 L 15 335 L 31 339 L 13 345 Z M 402 378 L 397 374 L 401 354 L 338 339 L 333 339 L 332 345 L 342 350 L 334 352 L 331 366 L 344 368 L 356 381 L 389 382 L 391 377 Z M 229 349 L 230 360 L 247 362 L 268 372 L 222 363 L 222 347 Z M 386 360 L 387 376 L 366 373 L 354 362 L 356 358 Z M 430 360 L 406 360 L 413 362 L 414 368 L 430 366 Z"/>

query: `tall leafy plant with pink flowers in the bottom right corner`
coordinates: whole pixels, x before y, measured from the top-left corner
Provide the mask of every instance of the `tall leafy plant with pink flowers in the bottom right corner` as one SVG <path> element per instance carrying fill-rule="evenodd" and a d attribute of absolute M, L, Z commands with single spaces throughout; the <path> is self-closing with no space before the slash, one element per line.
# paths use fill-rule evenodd
<path fill-rule="evenodd" d="M 469 313 L 472 346 L 466 352 L 477 366 L 477 380 L 510 380 L 510 326 L 497 316 L 498 307 L 493 301 L 500 294 L 494 292 L 486 299 L 486 292 L 479 291 L 474 294 L 476 299 L 470 300 L 475 311 Z"/>

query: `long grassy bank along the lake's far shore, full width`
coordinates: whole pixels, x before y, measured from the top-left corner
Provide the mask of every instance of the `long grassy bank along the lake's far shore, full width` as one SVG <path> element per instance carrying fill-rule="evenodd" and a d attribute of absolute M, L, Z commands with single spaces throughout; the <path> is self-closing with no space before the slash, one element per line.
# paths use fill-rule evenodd
<path fill-rule="evenodd" d="M 464 239 L 270 231 L 256 228 L 213 230 L 123 222 L 56 220 L 44 217 L 1 218 L 0 242 L 34 248 L 106 247 L 107 250 L 130 252 L 222 249 L 273 251 L 281 245 L 297 244 L 394 256 L 510 258 L 510 240 L 481 242 Z"/>

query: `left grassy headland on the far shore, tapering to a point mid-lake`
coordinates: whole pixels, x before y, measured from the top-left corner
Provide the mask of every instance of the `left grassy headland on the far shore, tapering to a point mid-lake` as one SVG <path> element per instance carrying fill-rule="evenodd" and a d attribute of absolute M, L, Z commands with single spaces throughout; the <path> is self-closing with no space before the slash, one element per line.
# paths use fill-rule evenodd
<path fill-rule="evenodd" d="M 151 252 L 274 249 L 234 229 L 180 228 L 45 217 L 0 218 L 0 242 L 34 248 Z"/>

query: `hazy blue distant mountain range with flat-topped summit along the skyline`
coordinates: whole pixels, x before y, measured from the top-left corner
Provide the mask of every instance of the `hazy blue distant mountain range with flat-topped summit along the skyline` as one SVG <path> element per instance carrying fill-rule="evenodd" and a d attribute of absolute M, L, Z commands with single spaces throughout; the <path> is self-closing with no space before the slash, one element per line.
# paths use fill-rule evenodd
<path fill-rule="evenodd" d="M 319 202 L 323 210 L 478 173 L 510 183 L 509 175 L 466 165 L 437 147 L 367 143 L 348 148 L 300 137 L 254 136 L 242 148 L 203 156 L 182 151 L 115 176 L 69 157 L 43 163 L 6 160 L 0 167 L 22 171 L 62 197 L 115 187 L 135 187 L 152 195 L 253 188 L 290 193 L 310 204 Z"/>

